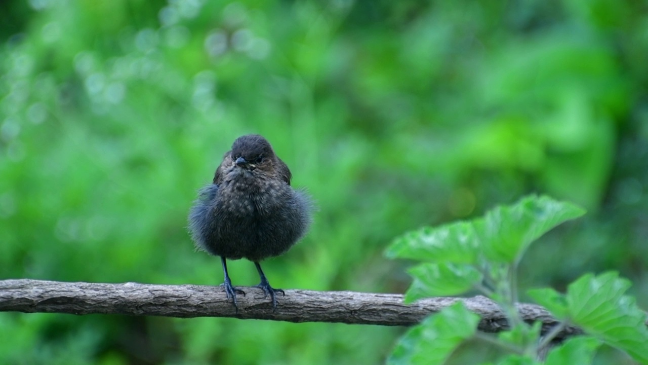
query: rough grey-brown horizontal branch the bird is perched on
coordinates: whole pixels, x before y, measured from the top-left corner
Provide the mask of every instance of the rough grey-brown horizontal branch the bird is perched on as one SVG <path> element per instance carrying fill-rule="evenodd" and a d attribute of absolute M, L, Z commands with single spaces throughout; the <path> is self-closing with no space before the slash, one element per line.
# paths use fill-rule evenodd
<path fill-rule="evenodd" d="M 508 327 L 500 307 L 483 296 L 435 297 L 404 305 L 400 294 L 286 290 L 286 296 L 277 297 L 277 310 L 273 312 L 270 298 L 264 298 L 261 289 L 238 288 L 247 295 L 237 297 L 237 313 L 220 286 L 4 280 L 0 281 L 0 311 L 414 325 L 428 314 L 463 300 L 481 316 L 481 331 L 498 332 Z M 541 321 L 545 331 L 557 325 L 555 318 L 537 305 L 520 304 L 518 310 L 525 321 Z M 568 326 L 557 337 L 578 333 L 578 328 Z"/>

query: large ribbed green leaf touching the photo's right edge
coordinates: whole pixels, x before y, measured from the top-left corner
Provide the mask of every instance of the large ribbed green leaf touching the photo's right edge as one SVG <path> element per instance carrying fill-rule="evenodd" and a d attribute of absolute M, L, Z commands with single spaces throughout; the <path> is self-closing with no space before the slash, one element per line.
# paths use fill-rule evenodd
<path fill-rule="evenodd" d="M 646 314 L 633 297 L 623 295 L 629 287 L 616 272 L 587 274 L 568 286 L 566 302 L 575 325 L 648 363 Z"/>

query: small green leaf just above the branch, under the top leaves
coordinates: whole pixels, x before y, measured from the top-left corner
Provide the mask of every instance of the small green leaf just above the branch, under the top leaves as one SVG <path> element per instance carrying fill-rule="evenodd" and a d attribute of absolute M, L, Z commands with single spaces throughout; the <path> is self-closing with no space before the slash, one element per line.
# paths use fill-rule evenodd
<path fill-rule="evenodd" d="M 414 278 L 405 303 L 434 296 L 455 296 L 481 283 L 483 275 L 467 264 L 421 264 L 408 270 Z"/>

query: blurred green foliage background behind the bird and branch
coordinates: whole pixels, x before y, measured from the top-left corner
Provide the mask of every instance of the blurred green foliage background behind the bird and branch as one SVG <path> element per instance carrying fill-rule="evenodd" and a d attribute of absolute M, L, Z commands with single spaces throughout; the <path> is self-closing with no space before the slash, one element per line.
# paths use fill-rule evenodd
<path fill-rule="evenodd" d="M 406 264 L 381 256 L 391 238 L 542 192 L 592 213 L 531 247 L 522 286 L 619 270 L 645 307 L 646 10 L 0 3 L 0 278 L 219 284 L 185 218 L 257 132 L 319 205 L 307 238 L 264 264 L 278 287 L 403 292 Z M 229 270 L 256 284 L 249 262 Z M 106 365 L 375 364 L 403 331 L 15 313 L 0 327 L 3 363 Z"/>

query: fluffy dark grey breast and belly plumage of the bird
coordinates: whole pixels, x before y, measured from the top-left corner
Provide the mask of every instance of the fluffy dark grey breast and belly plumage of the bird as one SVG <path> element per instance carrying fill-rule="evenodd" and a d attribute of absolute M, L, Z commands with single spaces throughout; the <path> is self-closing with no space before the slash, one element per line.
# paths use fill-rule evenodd
<path fill-rule="evenodd" d="M 307 231 L 308 196 L 285 183 L 241 180 L 200 190 L 189 216 L 196 247 L 233 260 L 285 253 Z"/>

